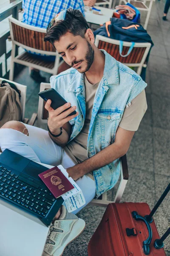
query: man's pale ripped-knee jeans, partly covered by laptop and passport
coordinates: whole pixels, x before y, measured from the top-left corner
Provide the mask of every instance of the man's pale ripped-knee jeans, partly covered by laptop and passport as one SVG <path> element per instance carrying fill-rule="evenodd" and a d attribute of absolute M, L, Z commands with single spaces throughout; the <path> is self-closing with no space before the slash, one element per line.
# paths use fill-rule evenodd
<path fill-rule="evenodd" d="M 14 129 L 0 129 L 0 148 L 2 151 L 8 148 L 39 163 L 51 166 L 62 164 L 65 169 L 75 165 L 63 148 L 51 140 L 48 131 L 35 126 L 24 125 L 28 129 L 29 136 Z M 84 175 L 76 183 L 82 189 L 86 201 L 85 205 L 87 205 L 96 196 L 94 180 Z M 76 214 L 83 207 L 73 213 Z"/>

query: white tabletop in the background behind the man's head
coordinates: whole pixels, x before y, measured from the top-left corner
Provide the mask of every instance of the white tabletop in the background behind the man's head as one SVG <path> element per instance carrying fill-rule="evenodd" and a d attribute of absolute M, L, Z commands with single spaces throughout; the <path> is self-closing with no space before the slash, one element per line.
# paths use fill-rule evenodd
<path fill-rule="evenodd" d="M 93 11 L 90 11 L 90 8 L 88 6 L 85 6 L 85 19 L 88 23 L 92 24 L 104 24 L 105 22 L 109 21 L 110 18 L 113 16 L 113 12 L 115 10 L 108 9 L 100 6 L 94 6 L 96 9 L 100 9 L 103 15 L 94 14 Z"/>

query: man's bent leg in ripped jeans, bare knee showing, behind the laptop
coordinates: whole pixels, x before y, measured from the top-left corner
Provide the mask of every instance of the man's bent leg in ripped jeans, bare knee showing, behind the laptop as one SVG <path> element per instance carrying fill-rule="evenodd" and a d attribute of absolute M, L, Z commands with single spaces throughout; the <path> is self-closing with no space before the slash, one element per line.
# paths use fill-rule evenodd
<path fill-rule="evenodd" d="M 0 128 L 0 148 L 52 166 L 62 162 L 63 150 L 51 140 L 48 131 L 18 121 L 7 122 Z"/>

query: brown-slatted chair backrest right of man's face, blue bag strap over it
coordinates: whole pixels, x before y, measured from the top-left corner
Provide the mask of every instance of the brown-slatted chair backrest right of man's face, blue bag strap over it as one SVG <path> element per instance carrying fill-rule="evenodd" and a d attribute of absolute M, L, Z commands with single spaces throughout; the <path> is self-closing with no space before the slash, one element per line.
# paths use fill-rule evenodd
<path fill-rule="evenodd" d="M 102 35 L 96 35 L 95 45 L 99 49 L 104 49 L 108 52 L 111 56 L 113 56 L 117 61 L 127 65 L 128 67 L 138 67 L 137 74 L 140 75 L 142 71 L 142 67 L 144 61 L 147 57 L 147 54 L 150 50 L 151 44 L 150 43 L 135 43 L 132 51 L 127 57 L 122 57 L 119 53 L 119 40 L 111 39 L 104 37 Z M 122 55 L 127 54 L 131 42 L 123 42 L 123 50 Z"/>

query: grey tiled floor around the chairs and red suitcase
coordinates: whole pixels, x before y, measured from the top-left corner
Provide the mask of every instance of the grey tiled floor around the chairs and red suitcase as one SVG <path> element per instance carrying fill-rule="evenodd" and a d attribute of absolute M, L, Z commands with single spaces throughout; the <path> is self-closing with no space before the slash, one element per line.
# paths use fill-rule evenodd
<path fill-rule="evenodd" d="M 147 31 L 155 46 L 147 67 L 148 109 L 127 153 L 129 181 L 122 197 L 122 202 L 144 201 L 150 207 L 170 182 L 170 13 L 169 20 L 162 21 L 163 9 L 164 1 L 156 0 L 150 15 Z M 26 117 L 31 117 L 31 113 L 37 112 L 40 84 L 28 76 L 27 68 L 15 81 L 27 85 Z M 112 195 L 110 192 L 109 199 Z M 79 212 L 78 216 L 86 222 L 85 231 L 66 247 L 63 256 L 88 256 L 88 242 L 104 212 L 105 208 L 90 205 Z M 162 235 L 170 226 L 170 195 L 154 219 Z M 170 256 L 170 237 L 164 248 Z"/>

